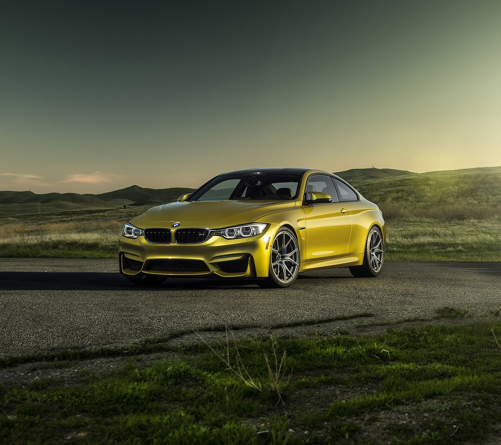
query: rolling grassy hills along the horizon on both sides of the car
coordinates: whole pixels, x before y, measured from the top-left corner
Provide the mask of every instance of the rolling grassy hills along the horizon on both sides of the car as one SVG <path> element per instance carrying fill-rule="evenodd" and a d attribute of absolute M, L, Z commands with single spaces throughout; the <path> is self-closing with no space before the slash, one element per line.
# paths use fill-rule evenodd
<path fill-rule="evenodd" d="M 377 203 L 385 218 L 485 219 L 501 215 L 501 167 L 412 173 L 393 169 L 337 172 Z M 0 216 L 67 210 L 119 209 L 176 200 L 193 189 L 137 185 L 98 195 L 0 191 Z"/>

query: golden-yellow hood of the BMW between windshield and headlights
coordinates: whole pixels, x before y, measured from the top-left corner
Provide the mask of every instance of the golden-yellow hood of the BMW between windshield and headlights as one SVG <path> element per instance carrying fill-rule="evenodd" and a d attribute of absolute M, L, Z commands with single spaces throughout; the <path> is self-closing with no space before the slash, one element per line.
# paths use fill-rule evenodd
<path fill-rule="evenodd" d="M 131 223 L 146 228 L 155 223 L 156 227 L 170 227 L 173 222 L 200 223 L 203 227 L 225 227 L 259 221 L 265 215 L 292 209 L 295 201 L 191 201 L 173 202 L 149 209 L 131 220 Z M 163 224 L 162 224 L 163 223 Z M 203 223 L 203 224 L 202 224 Z"/>

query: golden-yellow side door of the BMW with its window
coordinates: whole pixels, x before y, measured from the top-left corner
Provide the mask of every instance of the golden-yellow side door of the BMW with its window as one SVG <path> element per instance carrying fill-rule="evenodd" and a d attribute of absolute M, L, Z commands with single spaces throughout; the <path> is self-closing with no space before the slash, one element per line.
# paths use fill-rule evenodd
<path fill-rule="evenodd" d="M 331 195 L 332 202 L 307 204 L 309 192 Z M 338 192 L 328 175 L 308 178 L 303 201 L 306 223 L 306 261 L 346 256 L 351 234 L 351 215 L 347 203 L 339 202 Z"/>

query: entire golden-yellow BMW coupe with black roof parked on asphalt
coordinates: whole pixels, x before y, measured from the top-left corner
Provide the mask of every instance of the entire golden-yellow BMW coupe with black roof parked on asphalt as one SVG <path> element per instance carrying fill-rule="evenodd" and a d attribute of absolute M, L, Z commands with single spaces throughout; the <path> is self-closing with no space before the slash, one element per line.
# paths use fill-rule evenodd
<path fill-rule="evenodd" d="M 264 287 L 287 287 L 301 272 L 332 267 L 375 277 L 385 238 L 378 206 L 332 173 L 239 170 L 125 224 L 120 273 L 136 284 L 217 275 Z"/>

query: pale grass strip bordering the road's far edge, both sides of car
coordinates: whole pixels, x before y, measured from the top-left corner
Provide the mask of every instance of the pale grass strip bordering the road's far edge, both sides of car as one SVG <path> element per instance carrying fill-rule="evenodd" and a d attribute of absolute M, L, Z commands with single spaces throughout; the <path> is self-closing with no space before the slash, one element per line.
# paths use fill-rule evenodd
<path fill-rule="evenodd" d="M 118 236 L 132 216 L 147 209 L 37 215 L 38 221 L 4 219 L 3 258 L 116 258 Z M 501 218 L 485 220 L 387 219 L 387 261 L 501 261 Z"/>

